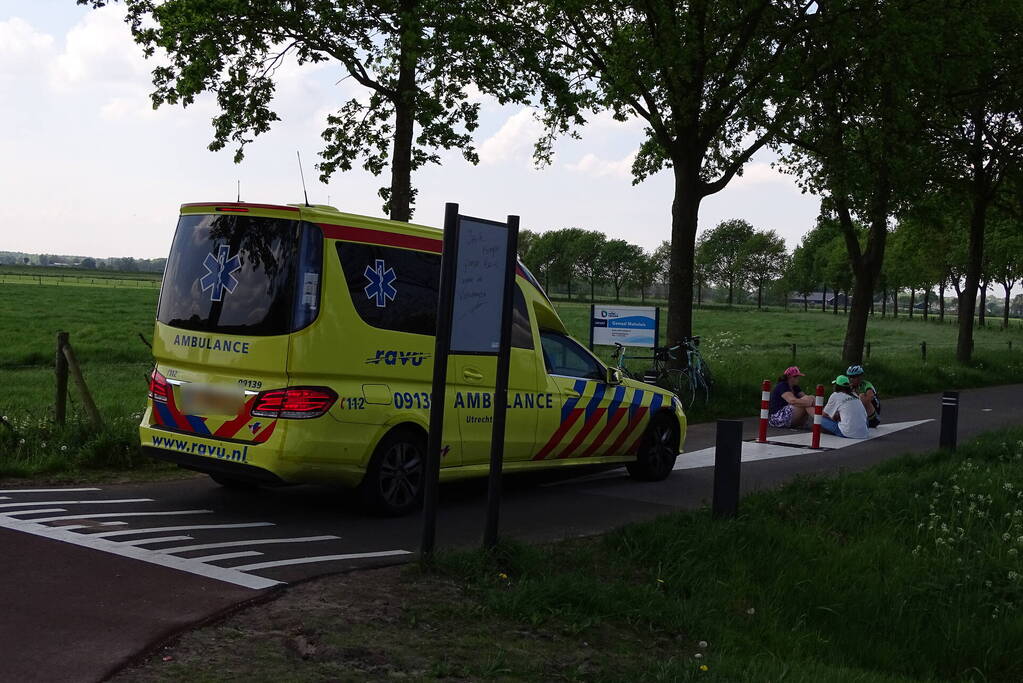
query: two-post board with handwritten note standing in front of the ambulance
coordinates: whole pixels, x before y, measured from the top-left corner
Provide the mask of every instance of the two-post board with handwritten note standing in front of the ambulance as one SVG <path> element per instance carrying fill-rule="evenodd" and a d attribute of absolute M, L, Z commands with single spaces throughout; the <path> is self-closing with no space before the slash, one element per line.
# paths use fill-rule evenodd
<path fill-rule="evenodd" d="M 450 354 L 497 358 L 487 520 L 483 539 L 486 547 L 492 547 L 497 542 L 518 238 L 518 216 L 508 216 L 507 223 L 498 223 L 460 216 L 458 206 L 454 203 L 446 207 L 420 547 L 422 559 L 428 561 L 433 555 L 436 539 L 440 453 Z"/>

